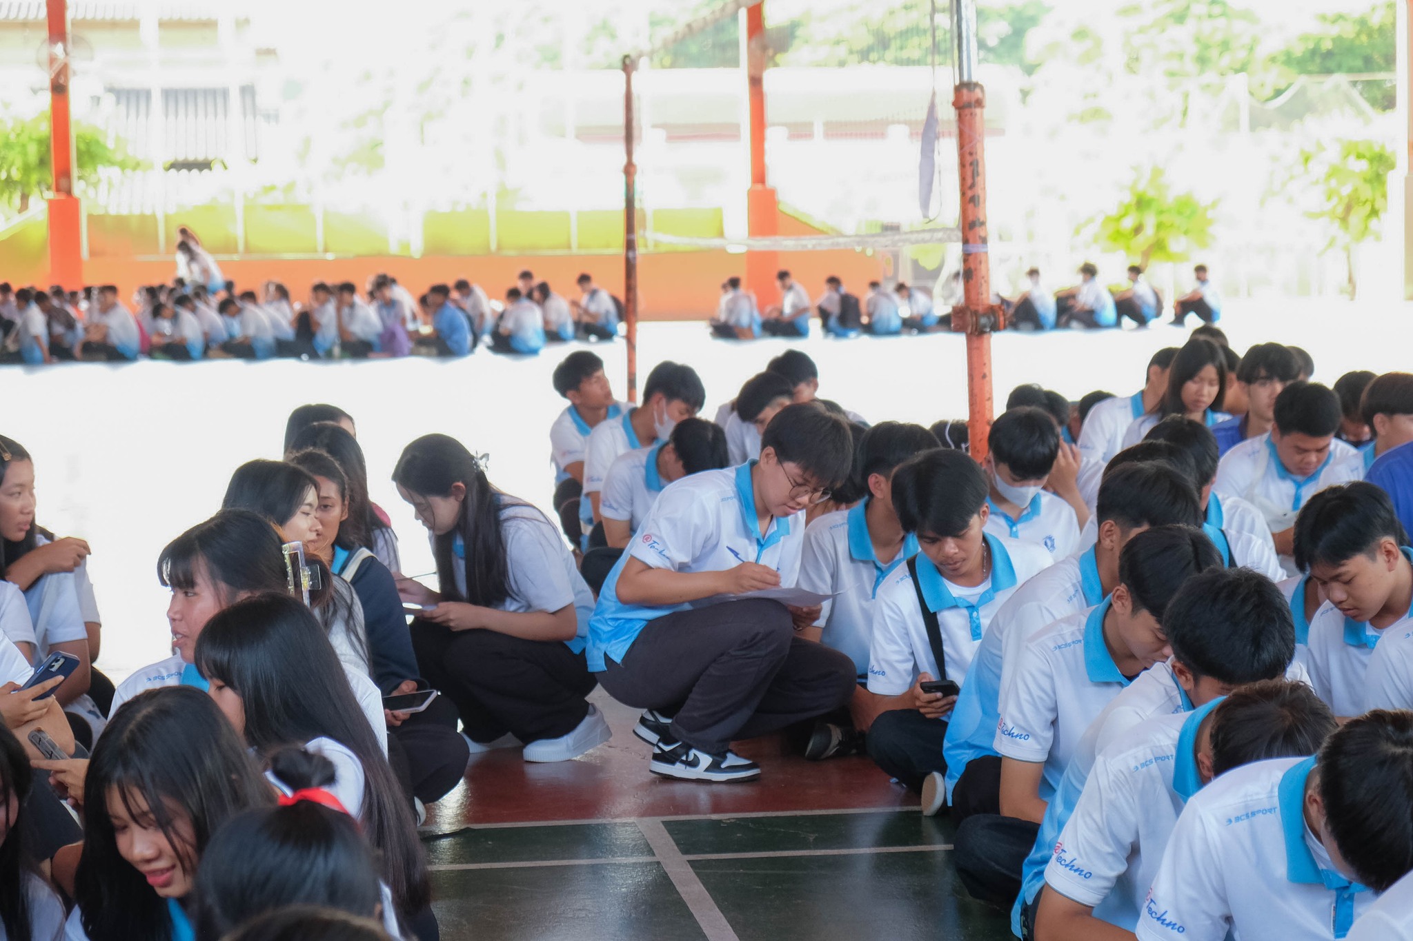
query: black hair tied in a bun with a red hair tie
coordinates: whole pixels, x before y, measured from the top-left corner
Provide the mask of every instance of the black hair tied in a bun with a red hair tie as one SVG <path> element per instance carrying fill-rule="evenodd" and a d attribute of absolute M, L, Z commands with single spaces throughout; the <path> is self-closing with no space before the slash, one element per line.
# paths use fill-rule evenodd
<path fill-rule="evenodd" d="M 270 773 L 294 791 L 328 787 L 333 765 L 287 748 Z M 250 918 L 291 904 L 373 916 L 377 861 L 346 813 L 314 800 L 247 810 L 216 831 L 196 872 L 196 937 L 223 938 Z"/>

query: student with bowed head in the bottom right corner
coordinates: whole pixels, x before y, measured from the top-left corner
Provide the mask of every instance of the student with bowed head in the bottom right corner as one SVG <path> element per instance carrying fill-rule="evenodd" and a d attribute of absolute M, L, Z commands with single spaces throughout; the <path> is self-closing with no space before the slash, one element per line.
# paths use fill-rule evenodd
<path fill-rule="evenodd" d="M 1178 817 L 1139 916 L 1139 941 L 1330 938 L 1409 859 L 1413 715 L 1376 710 L 1316 758 L 1226 772 Z M 1228 934 L 1229 933 L 1229 934 Z"/>

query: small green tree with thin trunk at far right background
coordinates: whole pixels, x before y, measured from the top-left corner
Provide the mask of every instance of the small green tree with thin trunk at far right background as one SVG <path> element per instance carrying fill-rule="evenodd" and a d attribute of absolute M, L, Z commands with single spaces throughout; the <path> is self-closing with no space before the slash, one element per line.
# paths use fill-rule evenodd
<path fill-rule="evenodd" d="M 1354 247 L 1378 231 L 1389 205 L 1389 174 L 1397 158 L 1379 141 L 1338 141 L 1300 151 L 1300 169 L 1320 189 L 1320 209 L 1306 213 L 1330 224 L 1325 251 L 1338 248 L 1349 268 L 1349 296 L 1358 292 Z"/>

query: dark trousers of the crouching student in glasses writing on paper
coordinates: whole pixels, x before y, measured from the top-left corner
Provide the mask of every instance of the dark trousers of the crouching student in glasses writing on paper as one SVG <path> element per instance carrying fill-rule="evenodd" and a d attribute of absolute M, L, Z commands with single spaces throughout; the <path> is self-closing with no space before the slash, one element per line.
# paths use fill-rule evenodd
<path fill-rule="evenodd" d="M 777 601 L 726 601 L 649 621 L 599 681 L 626 705 L 674 717 L 671 735 L 709 755 L 835 710 L 853 660 L 794 636 Z"/>

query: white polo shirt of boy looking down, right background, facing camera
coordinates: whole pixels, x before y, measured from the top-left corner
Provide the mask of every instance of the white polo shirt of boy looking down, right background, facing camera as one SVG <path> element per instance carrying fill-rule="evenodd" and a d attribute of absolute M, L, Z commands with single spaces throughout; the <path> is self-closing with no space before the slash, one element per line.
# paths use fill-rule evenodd
<path fill-rule="evenodd" d="M 1300 508 L 1325 487 L 1364 478 L 1364 456 L 1335 440 L 1330 443 L 1324 466 L 1297 488 L 1269 442 L 1269 433 L 1259 435 L 1226 451 L 1217 466 L 1217 490 L 1253 505 L 1273 533 L 1293 526 Z M 1280 563 L 1287 576 L 1299 574 L 1289 556 Z"/>

